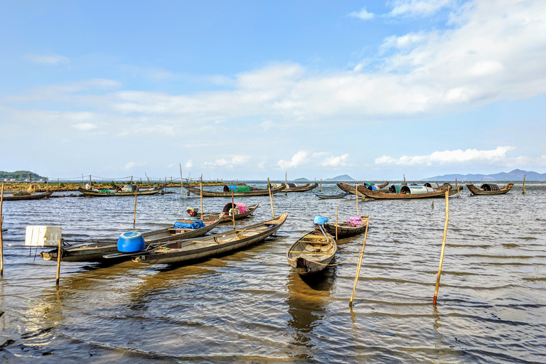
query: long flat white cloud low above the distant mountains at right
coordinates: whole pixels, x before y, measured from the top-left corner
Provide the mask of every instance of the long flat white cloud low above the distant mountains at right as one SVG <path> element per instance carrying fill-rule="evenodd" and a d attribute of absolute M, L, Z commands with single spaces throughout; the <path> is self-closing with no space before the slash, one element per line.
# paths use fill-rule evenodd
<path fill-rule="evenodd" d="M 514 149 L 514 146 L 498 146 L 493 150 L 466 149 L 466 151 L 463 151 L 457 149 L 454 151 L 434 151 L 434 153 L 427 156 L 401 156 L 398 159 L 382 156 L 375 159 L 375 164 L 401 166 L 433 166 L 468 162 L 495 164 L 506 159 L 506 153 Z"/>

